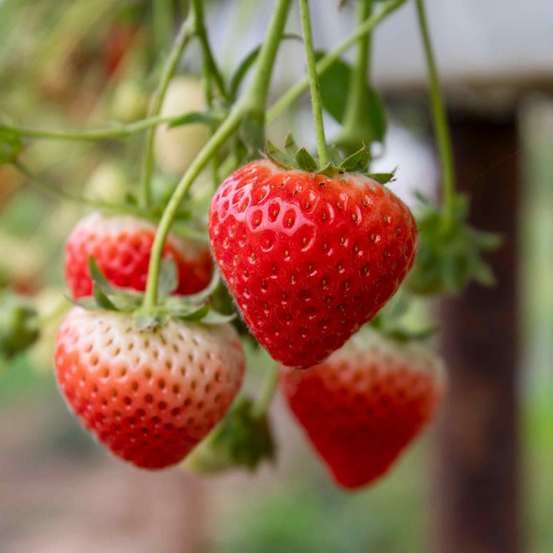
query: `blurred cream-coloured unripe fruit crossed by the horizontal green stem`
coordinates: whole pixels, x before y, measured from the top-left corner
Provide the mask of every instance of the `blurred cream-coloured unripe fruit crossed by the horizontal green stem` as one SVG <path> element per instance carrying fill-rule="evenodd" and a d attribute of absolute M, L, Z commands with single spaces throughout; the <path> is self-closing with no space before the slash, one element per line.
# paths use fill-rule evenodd
<path fill-rule="evenodd" d="M 165 95 L 161 115 L 174 117 L 205 110 L 205 90 L 196 77 L 175 77 Z M 169 129 L 162 125 L 156 132 L 155 152 L 161 169 L 182 175 L 209 140 L 205 124 L 193 123 Z"/>

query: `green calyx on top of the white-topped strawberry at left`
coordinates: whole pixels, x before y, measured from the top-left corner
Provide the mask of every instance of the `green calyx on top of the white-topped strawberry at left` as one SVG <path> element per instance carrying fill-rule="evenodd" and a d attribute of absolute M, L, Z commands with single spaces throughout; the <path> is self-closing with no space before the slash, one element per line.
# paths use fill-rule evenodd
<path fill-rule="evenodd" d="M 235 317 L 234 314 L 223 315 L 212 306 L 210 297 L 221 281 L 216 270 L 212 281 L 201 292 L 188 296 L 171 295 L 178 287 L 178 274 L 174 260 L 170 257 L 163 259 L 158 280 L 159 302 L 152 310 L 142 308 L 144 294 L 126 288 L 115 288 L 109 284 L 93 257 L 88 258 L 88 271 L 93 280 L 93 296 L 73 303 L 88 310 L 101 309 L 132 314 L 138 330 L 154 330 L 162 326 L 168 318 L 203 324 L 223 324 Z"/>

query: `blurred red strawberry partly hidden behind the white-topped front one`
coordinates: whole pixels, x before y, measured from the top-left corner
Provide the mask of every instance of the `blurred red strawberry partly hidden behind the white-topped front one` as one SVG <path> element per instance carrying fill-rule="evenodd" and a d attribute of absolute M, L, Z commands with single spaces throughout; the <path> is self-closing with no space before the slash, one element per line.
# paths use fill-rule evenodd
<path fill-rule="evenodd" d="M 93 256 L 109 283 L 142 292 L 155 236 L 156 226 L 135 216 L 94 212 L 83 218 L 65 246 L 65 278 L 73 297 L 92 294 L 89 256 Z M 170 235 L 164 252 L 164 257 L 169 256 L 178 270 L 176 294 L 194 294 L 209 284 L 212 260 L 207 245 Z"/>

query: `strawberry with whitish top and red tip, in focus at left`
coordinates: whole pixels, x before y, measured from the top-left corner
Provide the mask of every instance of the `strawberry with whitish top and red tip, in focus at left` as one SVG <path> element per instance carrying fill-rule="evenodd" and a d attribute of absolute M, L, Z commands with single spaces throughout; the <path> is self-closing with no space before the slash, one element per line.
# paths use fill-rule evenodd
<path fill-rule="evenodd" d="M 245 357 L 232 326 L 171 319 L 139 331 L 131 316 L 74 308 L 55 349 L 59 388 L 86 429 L 120 458 L 162 469 L 223 418 Z"/>

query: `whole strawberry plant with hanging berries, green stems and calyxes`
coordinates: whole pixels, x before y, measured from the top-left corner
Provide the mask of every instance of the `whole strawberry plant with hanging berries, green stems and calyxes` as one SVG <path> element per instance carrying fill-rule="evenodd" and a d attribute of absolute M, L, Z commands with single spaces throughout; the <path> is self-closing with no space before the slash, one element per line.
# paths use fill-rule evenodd
<path fill-rule="evenodd" d="M 435 417 L 444 368 L 431 344 L 419 343 L 432 332 L 415 335 L 400 316 L 411 294 L 491 283 L 481 252 L 498 247 L 498 238 L 467 225 L 469 203 L 456 193 L 422 0 L 411 1 L 429 68 L 442 203 L 420 196 L 413 215 L 388 187 L 395 170 L 371 173 L 373 145 L 386 135 L 384 105 L 368 72 L 371 32 L 409 0 L 357 1 L 355 30 L 316 53 L 309 1 L 299 0 L 297 37 L 285 33 L 292 0 L 275 0 L 262 44 L 225 75 L 204 3 L 191 0 L 165 62 L 152 68 L 150 102 L 140 79 L 133 81 L 139 109 L 120 117 L 131 122 L 55 131 L 0 119 L 0 164 L 93 210 L 66 237 L 59 272 L 76 306 L 55 340 L 55 374 L 68 406 L 118 458 L 147 469 L 253 470 L 278 458 L 268 409 L 280 381 L 333 478 L 358 489 L 385 474 Z M 159 53 L 169 29 L 160 21 L 155 27 Z M 284 39 L 303 44 L 307 75 L 268 107 Z M 116 85 L 131 82 L 122 76 L 133 45 L 143 41 L 136 22 L 110 31 L 103 73 Z M 201 79 L 178 75 L 193 41 L 203 58 Z M 350 65 L 342 55 L 353 46 Z M 308 89 L 317 153 L 291 134 L 280 150 L 265 140 L 266 126 Z M 149 113 L 140 118 L 145 105 Z M 341 124 L 330 141 L 324 111 Z M 98 193 L 53 185 L 28 166 L 30 140 L 105 143 L 110 150 L 136 142 L 138 149 L 113 147 L 110 158 L 126 154 L 138 185 L 119 170 L 115 180 L 123 185 L 102 184 Z M 4 290 L 1 359 L 30 348 L 57 317 L 59 309 L 39 316 L 30 300 Z M 241 391 L 243 341 L 265 348 L 275 362 L 259 397 Z"/>

